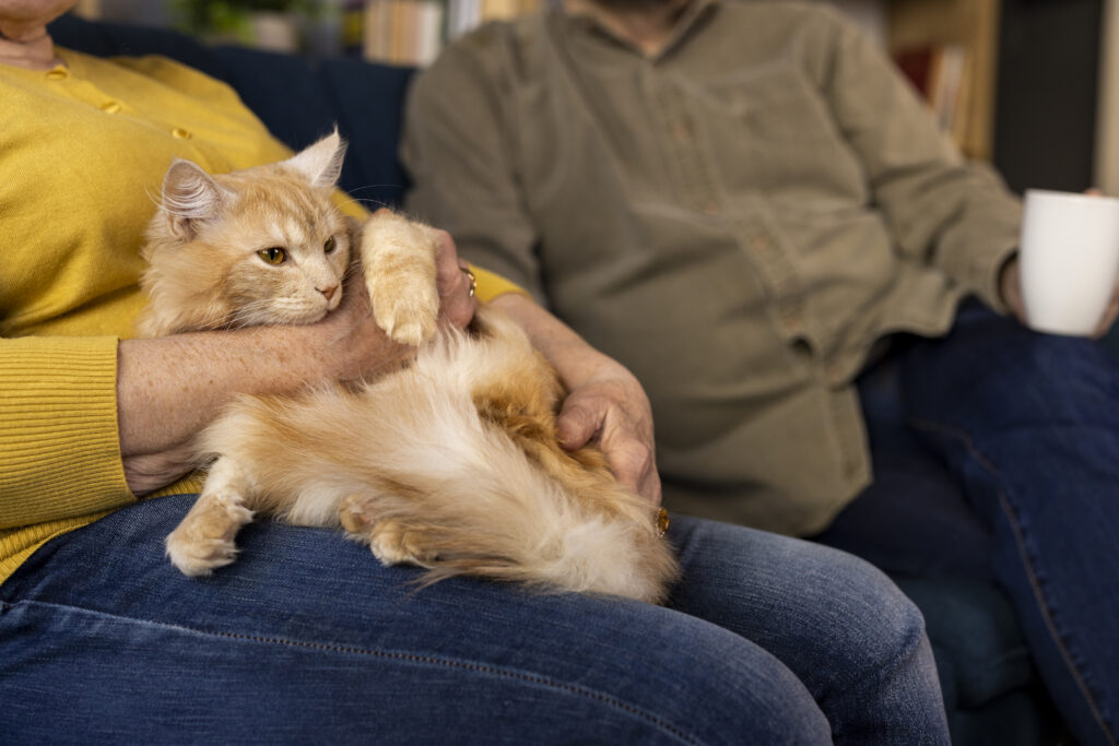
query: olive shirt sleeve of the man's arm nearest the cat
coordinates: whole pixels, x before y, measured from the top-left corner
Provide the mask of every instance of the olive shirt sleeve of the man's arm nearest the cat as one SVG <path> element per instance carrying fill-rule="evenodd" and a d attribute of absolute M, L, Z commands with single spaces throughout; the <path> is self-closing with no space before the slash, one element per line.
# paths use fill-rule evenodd
<path fill-rule="evenodd" d="M 499 34 L 490 27 L 470 39 L 470 48 L 451 45 L 412 86 L 401 150 L 414 183 L 406 207 L 448 230 L 463 257 L 543 302 L 538 236 L 518 187 L 515 136 L 501 116 L 510 102 L 473 50 L 482 45 L 487 56 L 496 51 Z"/>

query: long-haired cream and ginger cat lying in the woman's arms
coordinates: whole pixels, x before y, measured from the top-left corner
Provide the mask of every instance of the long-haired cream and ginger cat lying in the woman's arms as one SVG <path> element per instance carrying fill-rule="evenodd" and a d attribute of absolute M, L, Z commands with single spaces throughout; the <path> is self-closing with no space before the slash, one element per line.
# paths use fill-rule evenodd
<path fill-rule="evenodd" d="M 385 565 L 660 603 L 678 577 L 664 511 L 622 487 L 593 447 L 558 445 L 565 390 L 525 332 L 481 305 L 436 324 L 434 232 L 382 210 L 347 224 L 331 201 L 336 131 L 279 163 L 210 176 L 177 160 L 147 233 L 143 337 L 311 323 L 335 310 L 351 254 L 377 324 L 415 357 L 358 385 L 242 396 L 200 434 L 210 461 L 168 536 L 207 575 L 235 560 L 257 513 L 341 527 Z"/>

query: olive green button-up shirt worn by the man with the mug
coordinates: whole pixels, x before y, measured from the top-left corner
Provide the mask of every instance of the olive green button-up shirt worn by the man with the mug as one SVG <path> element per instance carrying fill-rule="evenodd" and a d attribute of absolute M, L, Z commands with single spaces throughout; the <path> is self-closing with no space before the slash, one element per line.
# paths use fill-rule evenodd
<path fill-rule="evenodd" d="M 552 9 L 413 87 L 408 208 L 628 366 L 665 502 L 811 533 L 871 480 L 875 342 L 999 309 L 1019 205 L 836 11 L 696 0 L 647 57 Z"/>

